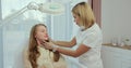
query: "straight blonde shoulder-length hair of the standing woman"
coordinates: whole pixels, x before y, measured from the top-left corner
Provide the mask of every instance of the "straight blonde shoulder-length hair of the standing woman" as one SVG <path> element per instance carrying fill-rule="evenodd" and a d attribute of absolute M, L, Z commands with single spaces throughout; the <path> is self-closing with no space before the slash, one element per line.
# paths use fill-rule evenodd
<path fill-rule="evenodd" d="M 72 13 L 80 17 L 81 26 L 84 26 L 85 29 L 90 28 L 95 23 L 94 13 L 86 2 L 78 3 L 72 9 Z"/>

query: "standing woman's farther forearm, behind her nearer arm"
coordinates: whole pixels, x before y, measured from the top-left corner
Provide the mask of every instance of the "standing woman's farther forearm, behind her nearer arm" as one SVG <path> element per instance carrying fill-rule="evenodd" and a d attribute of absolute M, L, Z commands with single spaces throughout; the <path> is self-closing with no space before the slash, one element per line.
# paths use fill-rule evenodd
<path fill-rule="evenodd" d="M 53 43 L 59 46 L 72 47 L 73 45 L 76 44 L 76 40 L 74 37 L 71 41 L 53 41 Z"/>

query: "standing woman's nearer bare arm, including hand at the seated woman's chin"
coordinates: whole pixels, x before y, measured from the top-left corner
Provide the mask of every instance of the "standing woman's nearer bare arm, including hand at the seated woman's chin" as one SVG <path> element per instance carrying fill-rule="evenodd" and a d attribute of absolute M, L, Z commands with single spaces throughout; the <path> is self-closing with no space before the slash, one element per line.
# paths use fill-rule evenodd
<path fill-rule="evenodd" d="M 47 50 L 58 51 L 61 54 L 79 57 L 80 55 L 84 54 L 85 52 L 90 51 L 91 47 L 85 44 L 81 44 L 76 50 L 68 50 L 60 46 L 53 46 L 52 44 L 49 44 L 48 42 L 44 43 L 44 47 Z"/>

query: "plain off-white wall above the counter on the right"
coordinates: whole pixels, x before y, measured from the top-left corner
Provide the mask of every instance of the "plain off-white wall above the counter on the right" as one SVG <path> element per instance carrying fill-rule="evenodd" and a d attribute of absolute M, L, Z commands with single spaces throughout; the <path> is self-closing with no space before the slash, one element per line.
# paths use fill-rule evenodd
<path fill-rule="evenodd" d="M 131 0 L 102 0 L 104 43 L 114 37 L 131 39 Z"/>

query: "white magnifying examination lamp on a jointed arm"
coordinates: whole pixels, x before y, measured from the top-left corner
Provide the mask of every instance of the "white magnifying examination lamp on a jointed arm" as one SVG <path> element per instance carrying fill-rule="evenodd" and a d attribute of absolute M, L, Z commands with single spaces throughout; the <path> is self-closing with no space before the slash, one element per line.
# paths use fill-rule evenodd
<path fill-rule="evenodd" d="M 9 15 L 3 21 L 1 21 L 0 27 L 3 26 L 4 24 L 8 24 L 11 19 L 17 17 L 19 15 L 23 14 L 28 10 L 36 10 L 41 13 L 57 15 L 57 14 L 62 14 L 64 12 L 64 6 L 57 2 L 46 2 L 46 3 L 29 2 L 26 6 L 24 6 L 20 11 Z"/>

